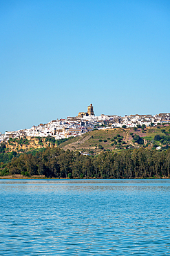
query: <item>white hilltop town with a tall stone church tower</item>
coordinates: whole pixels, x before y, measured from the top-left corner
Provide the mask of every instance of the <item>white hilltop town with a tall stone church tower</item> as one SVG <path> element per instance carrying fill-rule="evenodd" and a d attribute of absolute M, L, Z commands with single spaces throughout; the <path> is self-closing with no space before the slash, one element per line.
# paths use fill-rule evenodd
<path fill-rule="evenodd" d="M 69 138 L 71 136 L 81 136 L 93 129 L 113 129 L 118 127 L 149 127 L 170 123 L 170 113 L 159 113 L 152 115 L 130 115 L 130 116 L 101 116 L 94 115 L 94 107 L 90 104 L 87 112 L 79 112 L 78 116 L 60 120 L 52 120 L 47 124 L 32 126 L 29 129 L 18 131 L 6 131 L 0 133 L 0 143 L 8 141 L 10 138 L 23 137 L 47 137 L 52 136 L 56 140 Z"/>

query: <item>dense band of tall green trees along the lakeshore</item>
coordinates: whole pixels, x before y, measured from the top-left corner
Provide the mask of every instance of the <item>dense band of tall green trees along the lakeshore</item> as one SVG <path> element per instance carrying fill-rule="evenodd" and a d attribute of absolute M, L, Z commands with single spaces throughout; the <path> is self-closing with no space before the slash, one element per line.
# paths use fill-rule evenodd
<path fill-rule="evenodd" d="M 98 156 L 83 156 L 79 152 L 47 147 L 36 154 L 34 152 L 12 156 L 6 164 L 1 162 L 1 175 L 135 179 L 169 177 L 170 170 L 170 149 L 158 152 L 156 149 L 141 147 L 123 150 L 120 153 L 102 152 Z"/>

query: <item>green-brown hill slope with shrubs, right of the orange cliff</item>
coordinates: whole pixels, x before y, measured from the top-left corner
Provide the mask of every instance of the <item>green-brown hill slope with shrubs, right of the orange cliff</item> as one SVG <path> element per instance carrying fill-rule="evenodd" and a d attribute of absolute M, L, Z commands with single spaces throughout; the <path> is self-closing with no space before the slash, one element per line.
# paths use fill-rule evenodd
<path fill-rule="evenodd" d="M 116 128 L 94 130 L 78 137 L 76 141 L 70 140 L 62 143 L 63 149 L 78 150 L 89 154 L 98 154 L 100 151 L 120 151 L 130 147 L 167 147 L 170 143 L 169 125 L 157 127 L 138 128 Z"/>

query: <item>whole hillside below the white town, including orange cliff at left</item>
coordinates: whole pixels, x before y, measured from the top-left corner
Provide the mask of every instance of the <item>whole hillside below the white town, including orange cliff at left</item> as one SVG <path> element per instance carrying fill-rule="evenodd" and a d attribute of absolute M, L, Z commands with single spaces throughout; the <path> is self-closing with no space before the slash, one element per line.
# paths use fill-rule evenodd
<path fill-rule="evenodd" d="M 98 154 L 104 151 L 118 152 L 122 149 L 139 147 L 167 148 L 170 144 L 170 126 L 159 125 L 146 128 L 115 128 L 89 131 L 83 136 L 70 137 L 68 139 L 55 140 L 48 136 L 10 138 L 6 143 L 6 152 L 27 152 L 31 149 L 44 147 L 61 147 L 64 150 L 87 152 Z"/>

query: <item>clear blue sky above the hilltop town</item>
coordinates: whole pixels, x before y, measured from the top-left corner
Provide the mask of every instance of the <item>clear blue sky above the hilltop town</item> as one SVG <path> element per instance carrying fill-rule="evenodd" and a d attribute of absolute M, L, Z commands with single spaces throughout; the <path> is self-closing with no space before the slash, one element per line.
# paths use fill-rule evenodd
<path fill-rule="evenodd" d="M 170 112 L 170 1 L 0 1 L 0 131 Z"/>

